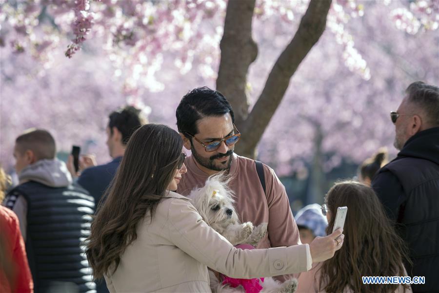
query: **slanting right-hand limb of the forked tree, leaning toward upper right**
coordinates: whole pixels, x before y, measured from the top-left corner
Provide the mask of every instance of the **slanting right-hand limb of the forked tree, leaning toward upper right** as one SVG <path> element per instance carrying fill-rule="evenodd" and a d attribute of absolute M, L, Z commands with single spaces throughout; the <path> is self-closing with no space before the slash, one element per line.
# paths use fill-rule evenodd
<path fill-rule="evenodd" d="M 331 0 L 310 1 L 293 40 L 280 54 L 258 101 L 244 126 L 241 126 L 244 135 L 237 145 L 237 152 L 240 155 L 254 156 L 256 146 L 282 101 L 291 77 L 323 34 L 330 6 Z"/>

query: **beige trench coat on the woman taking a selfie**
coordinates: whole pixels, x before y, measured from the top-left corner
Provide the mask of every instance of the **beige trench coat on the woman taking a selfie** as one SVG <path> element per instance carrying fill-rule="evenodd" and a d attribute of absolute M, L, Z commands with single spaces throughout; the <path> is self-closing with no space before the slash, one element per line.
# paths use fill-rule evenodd
<path fill-rule="evenodd" d="M 233 247 L 202 219 L 190 200 L 169 192 L 152 223 L 137 228 L 137 239 L 105 276 L 110 292 L 210 292 L 207 267 L 235 278 L 268 277 L 311 269 L 309 246 L 261 250 Z"/>

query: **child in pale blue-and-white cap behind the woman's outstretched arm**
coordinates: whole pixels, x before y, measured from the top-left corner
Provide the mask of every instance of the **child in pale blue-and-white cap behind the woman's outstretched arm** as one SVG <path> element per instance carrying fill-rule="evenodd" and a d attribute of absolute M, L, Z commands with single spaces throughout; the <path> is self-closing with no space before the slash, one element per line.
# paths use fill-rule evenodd
<path fill-rule="evenodd" d="M 321 213 L 321 206 L 312 204 L 303 207 L 296 214 L 296 224 L 299 228 L 300 241 L 310 244 L 317 236 L 326 235 L 328 220 Z"/>

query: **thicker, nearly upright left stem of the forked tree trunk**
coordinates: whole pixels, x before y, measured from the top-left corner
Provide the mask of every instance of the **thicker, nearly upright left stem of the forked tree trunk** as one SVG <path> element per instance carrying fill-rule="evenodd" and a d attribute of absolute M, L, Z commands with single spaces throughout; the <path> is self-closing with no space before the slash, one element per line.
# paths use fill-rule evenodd
<path fill-rule="evenodd" d="M 221 61 L 217 90 L 232 105 L 238 127 L 247 118 L 247 72 L 258 55 L 258 46 L 252 38 L 254 9 L 255 0 L 229 0 L 224 34 L 220 42 Z"/>

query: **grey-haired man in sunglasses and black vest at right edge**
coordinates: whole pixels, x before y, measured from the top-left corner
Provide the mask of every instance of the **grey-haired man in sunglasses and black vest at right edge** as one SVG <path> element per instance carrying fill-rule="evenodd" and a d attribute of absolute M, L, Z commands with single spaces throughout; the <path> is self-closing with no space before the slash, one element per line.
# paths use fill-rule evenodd
<path fill-rule="evenodd" d="M 372 187 L 408 246 L 407 273 L 425 277 L 413 292 L 439 292 L 439 88 L 410 84 L 391 119 L 400 152 Z"/>

